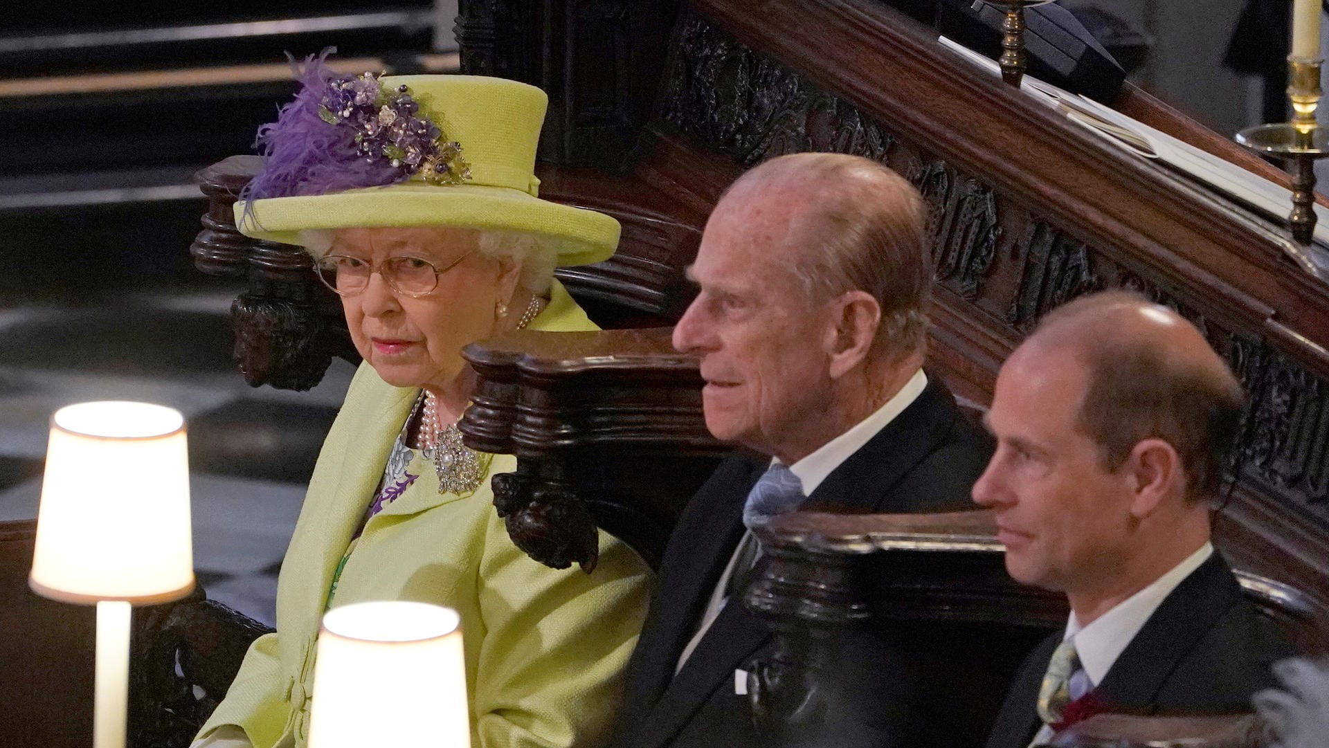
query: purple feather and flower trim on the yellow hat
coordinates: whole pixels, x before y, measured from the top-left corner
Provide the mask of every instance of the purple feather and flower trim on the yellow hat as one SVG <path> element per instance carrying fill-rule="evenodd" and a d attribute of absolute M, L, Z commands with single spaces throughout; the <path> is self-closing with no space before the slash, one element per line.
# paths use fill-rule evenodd
<path fill-rule="evenodd" d="M 380 187 L 417 174 L 445 186 L 470 179 L 461 143 L 420 113 L 407 86 L 389 89 L 373 73 L 338 76 L 324 64 L 332 52 L 296 66 L 300 92 L 259 128 L 254 145 L 267 162 L 242 199 Z"/>

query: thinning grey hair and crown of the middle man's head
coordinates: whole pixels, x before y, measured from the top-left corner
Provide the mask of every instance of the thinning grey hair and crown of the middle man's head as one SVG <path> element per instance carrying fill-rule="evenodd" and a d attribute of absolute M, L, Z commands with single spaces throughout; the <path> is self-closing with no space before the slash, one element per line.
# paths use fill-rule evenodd
<path fill-rule="evenodd" d="M 876 345 L 893 357 L 922 353 L 933 266 L 928 209 L 918 190 L 888 166 L 860 155 L 796 153 L 767 161 L 739 185 L 783 182 L 811 191 L 792 221 L 808 250 L 789 270 L 809 304 L 864 291 L 881 307 Z"/>

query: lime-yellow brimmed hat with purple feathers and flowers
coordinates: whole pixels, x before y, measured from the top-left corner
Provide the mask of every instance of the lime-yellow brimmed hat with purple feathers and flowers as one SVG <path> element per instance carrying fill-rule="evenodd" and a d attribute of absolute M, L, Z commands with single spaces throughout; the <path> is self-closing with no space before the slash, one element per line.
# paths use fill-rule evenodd
<path fill-rule="evenodd" d="M 460 226 L 546 236 L 558 264 L 607 259 L 618 222 L 537 197 L 549 97 L 485 76 L 336 77 L 310 60 L 304 89 L 259 130 L 267 162 L 241 202 L 247 236 L 299 244 L 310 229 Z"/>

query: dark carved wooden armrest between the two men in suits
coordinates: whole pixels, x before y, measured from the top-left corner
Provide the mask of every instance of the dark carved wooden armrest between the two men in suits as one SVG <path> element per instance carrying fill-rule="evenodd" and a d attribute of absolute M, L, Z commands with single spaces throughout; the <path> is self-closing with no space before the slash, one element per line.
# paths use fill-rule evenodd
<path fill-rule="evenodd" d="M 1066 620 L 1061 595 L 1006 574 L 990 512 L 793 513 L 760 538 L 744 603 L 775 644 L 746 670 L 771 747 L 876 745 L 857 725 L 918 703 L 946 711 L 929 721 L 954 744 L 981 745 L 1025 654 Z"/>

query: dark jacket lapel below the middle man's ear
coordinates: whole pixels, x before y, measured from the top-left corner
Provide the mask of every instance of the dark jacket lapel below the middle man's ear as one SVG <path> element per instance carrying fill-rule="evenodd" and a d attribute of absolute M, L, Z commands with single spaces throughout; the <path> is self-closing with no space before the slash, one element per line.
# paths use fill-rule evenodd
<path fill-rule="evenodd" d="M 928 387 L 918 397 L 859 452 L 832 470 L 801 510 L 847 514 L 917 512 L 917 506 L 896 506 L 892 489 L 914 465 L 937 449 L 954 420 L 961 417 L 964 416 L 950 392 L 929 377 Z"/>

